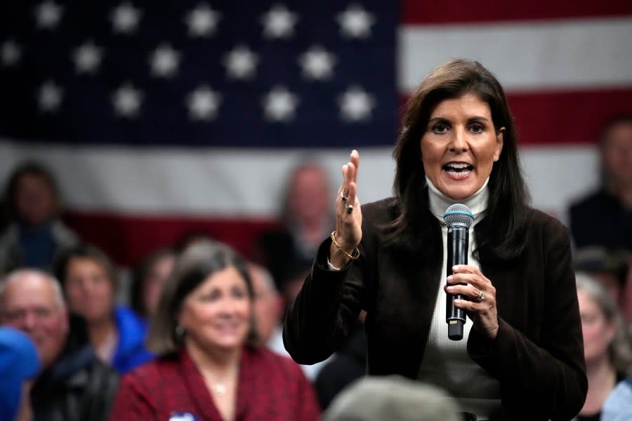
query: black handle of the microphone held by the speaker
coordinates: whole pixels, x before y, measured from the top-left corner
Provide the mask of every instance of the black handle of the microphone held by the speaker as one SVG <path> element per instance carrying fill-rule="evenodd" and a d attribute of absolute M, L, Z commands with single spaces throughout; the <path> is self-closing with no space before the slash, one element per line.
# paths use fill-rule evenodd
<path fill-rule="evenodd" d="M 454 224 L 448 227 L 446 276 L 452 275 L 454 265 L 468 264 L 468 236 L 469 229 L 465 225 Z M 456 299 L 464 298 L 461 294 L 447 294 L 445 320 L 448 323 L 448 338 L 451 340 L 463 339 L 463 325 L 466 321 L 465 310 L 454 307 Z"/>

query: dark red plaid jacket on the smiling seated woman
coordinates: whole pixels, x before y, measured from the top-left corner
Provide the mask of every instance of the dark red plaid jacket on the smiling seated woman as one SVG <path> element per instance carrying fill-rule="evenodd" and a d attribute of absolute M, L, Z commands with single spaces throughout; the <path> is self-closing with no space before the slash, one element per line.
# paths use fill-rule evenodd
<path fill-rule="evenodd" d="M 236 409 L 235 421 L 317 421 L 320 417 L 312 385 L 301 368 L 268 349 L 244 348 Z M 170 419 L 223 421 L 185 350 L 126 374 L 110 415 L 111 421 Z"/>

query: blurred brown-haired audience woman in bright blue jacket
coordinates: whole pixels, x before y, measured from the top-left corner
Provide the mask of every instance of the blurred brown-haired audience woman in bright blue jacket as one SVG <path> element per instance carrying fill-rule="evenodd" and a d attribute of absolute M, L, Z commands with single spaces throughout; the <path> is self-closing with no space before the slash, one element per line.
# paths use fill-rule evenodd
<path fill-rule="evenodd" d="M 147 324 L 117 305 L 117 274 L 107 255 L 94 246 L 67 250 L 57 270 L 71 312 L 86 319 L 98 357 L 120 373 L 152 359 L 145 348 Z"/>

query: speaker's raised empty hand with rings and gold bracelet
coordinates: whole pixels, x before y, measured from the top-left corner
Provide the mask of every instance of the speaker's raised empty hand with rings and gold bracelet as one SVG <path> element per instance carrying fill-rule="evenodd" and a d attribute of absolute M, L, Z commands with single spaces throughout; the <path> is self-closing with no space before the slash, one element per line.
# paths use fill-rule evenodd
<path fill-rule="evenodd" d="M 350 255 L 362 240 L 362 211 L 357 199 L 357 168 L 360 166 L 360 154 L 353 149 L 349 162 L 343 165 L 343 182 L 336 197 L 336 242 Z M 349 210 L 350 209 L 350 210 Z M 338 250 L 331 242 L 329 262 L 334 267 L 342 268 L 349 262 L 348 255 Z"/>

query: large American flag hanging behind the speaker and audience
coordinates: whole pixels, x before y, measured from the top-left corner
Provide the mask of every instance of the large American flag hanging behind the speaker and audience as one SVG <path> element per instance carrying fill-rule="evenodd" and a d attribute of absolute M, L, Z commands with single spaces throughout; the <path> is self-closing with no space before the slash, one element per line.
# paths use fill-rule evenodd
<path fill-rule="evenodd" d="M 305 156 L 390 194 L 407 95 L 449 58 L 506 88 L 536 207 L 598 183 L 632 112 L 632 2 L 12 1 L 0 6 L 0 180 L 58 177 L 67 222 L 129 265 L 185 232 L 244 253 Z M 335 188 L 335 187 L 334 187 Z"/>

